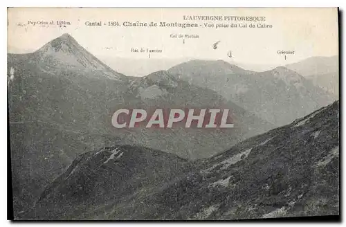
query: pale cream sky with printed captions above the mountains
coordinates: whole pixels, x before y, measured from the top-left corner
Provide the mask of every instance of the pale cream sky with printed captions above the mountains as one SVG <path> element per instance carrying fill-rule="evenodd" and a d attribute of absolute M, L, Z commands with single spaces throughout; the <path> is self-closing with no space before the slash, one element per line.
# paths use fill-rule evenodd
<path fill-rule="evenodd" d="M 203 28 L 204 22 L 184 21 L 184 15 L 258 16 L 273 28 Z M 28 21 L 69 21 L 71 25 L 32 26 Z M 139 28 L 86 26 L 86 21 L 165 21 L 201 24 L 199 28 Z M 220 21 L 220 23 L 230 21 Z M 24 24 L 18 26 L 18 24 Z M 239 24 L 239 23 L 237 23 Z M 250 22 L 248 22 L 250 24 Z M 336 8 L 10 8 L 8 49 L 26 52 L 40 48 L 63 33 L 72 35 L 96 56 L 148 58 L 131 48 L 161 49 L 152 58 L 229 60 L 248 64 L 288 64 L 311 56 L 338 55 L 338 11 Z M 171 38 L 171 34 L 198 35 L 198 39 Z M 218 48 L 212 44 L 220 41 Z M 277 51 L 295 51 L 278 55 Z"/>

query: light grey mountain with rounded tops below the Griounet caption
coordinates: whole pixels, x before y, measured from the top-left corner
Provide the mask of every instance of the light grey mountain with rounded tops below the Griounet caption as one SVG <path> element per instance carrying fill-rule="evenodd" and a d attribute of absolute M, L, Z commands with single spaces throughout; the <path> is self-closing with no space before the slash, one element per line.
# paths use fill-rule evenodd
<path fill-rule="evenodd" d="M 330 104 L 334 99 L 298 73 L 282 66 L 271 71 L 246 71 L 224 61 L 190 61 L 169 70 L 181 80 L 217 91 L 274 125 Z"/>

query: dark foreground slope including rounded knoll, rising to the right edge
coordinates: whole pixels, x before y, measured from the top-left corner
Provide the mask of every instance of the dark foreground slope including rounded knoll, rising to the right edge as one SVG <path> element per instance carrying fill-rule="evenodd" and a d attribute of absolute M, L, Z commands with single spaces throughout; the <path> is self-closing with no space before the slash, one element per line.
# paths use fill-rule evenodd
<path fill-rule="evenodd" d="M 161 152 L 148 161 L 150 151 L 114 148 L 80 156 L 27 215 L 253 219 L 339 213 L 339 102 L 185 168 Z M 129 166 L 137 174 L 124 177 Z M 165 183 L 155 180 L 158 172 L 167 178 Z"/>

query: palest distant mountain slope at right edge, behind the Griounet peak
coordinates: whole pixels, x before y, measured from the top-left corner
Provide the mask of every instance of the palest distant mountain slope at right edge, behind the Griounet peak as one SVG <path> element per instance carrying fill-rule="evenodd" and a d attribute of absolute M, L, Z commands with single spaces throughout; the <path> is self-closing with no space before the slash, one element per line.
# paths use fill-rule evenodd
<path fill-rule="evenodd" d="M 313 82 L 315 86 L 338 97 L 339 94 L 339 64 L 338 56 L 309 57 L 301 62 L 288 64 L 286 67 Z"/>

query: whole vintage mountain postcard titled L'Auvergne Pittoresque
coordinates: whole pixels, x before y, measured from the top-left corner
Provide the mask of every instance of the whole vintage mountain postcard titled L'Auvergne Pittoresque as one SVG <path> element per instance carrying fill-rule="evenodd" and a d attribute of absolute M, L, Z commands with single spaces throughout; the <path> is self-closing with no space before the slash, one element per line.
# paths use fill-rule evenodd
<path fill-rule="evenodd" d="M 8 8 L 15 219 L 339 215 L 337 8 Z"/>

